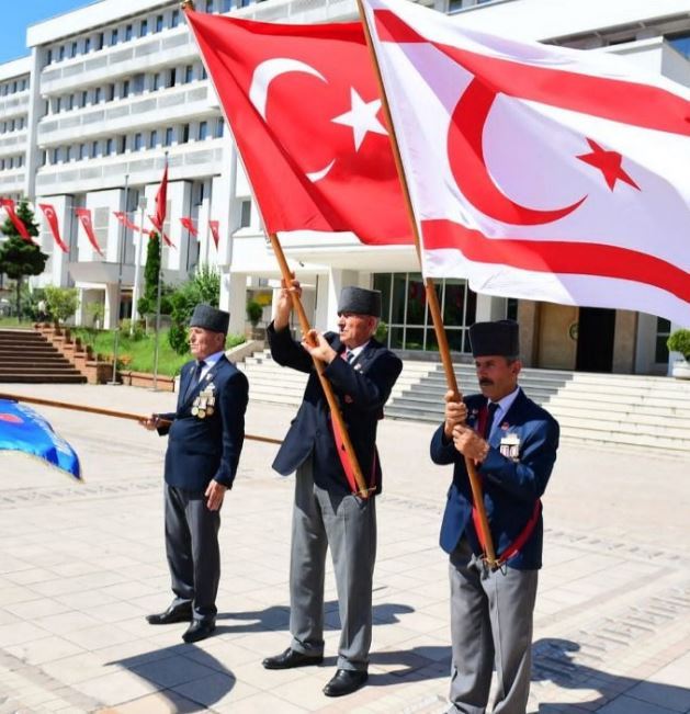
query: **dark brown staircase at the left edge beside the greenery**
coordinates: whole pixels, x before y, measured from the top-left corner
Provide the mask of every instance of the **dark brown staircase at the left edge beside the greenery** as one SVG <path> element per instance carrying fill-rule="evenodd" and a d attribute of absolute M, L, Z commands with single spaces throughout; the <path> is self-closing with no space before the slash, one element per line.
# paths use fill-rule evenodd
<path fill-rule="evenodd" d="M 87 377 L 33 330 L 0 329 L 0 383 L 82 384 Z"/>

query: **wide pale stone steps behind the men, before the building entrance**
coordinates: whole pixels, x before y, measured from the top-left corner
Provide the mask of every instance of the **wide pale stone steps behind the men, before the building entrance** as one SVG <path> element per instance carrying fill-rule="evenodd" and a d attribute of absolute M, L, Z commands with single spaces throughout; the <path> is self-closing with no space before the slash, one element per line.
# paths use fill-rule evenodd
<path fill-rule="evenodd" d="M 250 398 L 299 404 L 306 374 L 280 367 L 268 351 L 247 358 L 240 369 Z M 455 373 L 462 390 L 477 390 L 471 364 L 455 364 Z M 558 419 L 564 440 L 690 455 L 690 381 L 524 369 L 520 384 Z M 445 390 L 440 364 L 406 360 L 386 417 L 439 423 Z"/>

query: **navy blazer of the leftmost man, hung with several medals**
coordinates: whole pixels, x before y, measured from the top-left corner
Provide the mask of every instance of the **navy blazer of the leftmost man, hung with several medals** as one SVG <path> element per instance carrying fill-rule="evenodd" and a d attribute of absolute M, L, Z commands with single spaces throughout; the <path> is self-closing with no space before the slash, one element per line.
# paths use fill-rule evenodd
<path fill-rule="evenodd" d="M 245 411 L 249 399 L 247 377 L 225 356 L 188 394 L 196 361 L 182 366 L 178 410 L 158 415 L 172 421 L 158 429 L 168 434 L 166 483 L 189 491 L 205 491 L 212 479 L 233 487 L 245 440 Z M 199 393 L 213 384 L 215 408 L 200 419 L 192 415 Z"/>

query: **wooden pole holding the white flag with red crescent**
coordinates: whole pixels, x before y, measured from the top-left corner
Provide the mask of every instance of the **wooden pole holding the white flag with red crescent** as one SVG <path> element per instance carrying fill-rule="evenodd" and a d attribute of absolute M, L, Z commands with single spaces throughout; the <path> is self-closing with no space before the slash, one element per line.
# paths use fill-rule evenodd
<path fill-rule="evenodd" d="M 364 29 L 366 46 L 369 47 L 369 53 L 372 59 L 372 64 L 374 66 L 374 71 L 376 73 L 376 81 L 378 82 L 378 91 L 381 93 L 383 111 L 386 117 L 386 122 L 388 124 L 388 131 L 391 132 L 391 147 L 393 148 L 393 158 L 395 159 L 395 168 L 398 172 L 398 178 L 400 180 L 400 185 L 403 188 L 403 195 L 405 196 L 407 215 L 409 217 L 409 223 L 412 228 L 412 234 L 415 236 L 417 258 L 419 259 L 419 264 L 423 265 L 421 260 L 421 238 L 419 236 L 419 229 L 417 228 L 415 208 L 412 207 L 409 186 L 407 184 L 405 171 L 403 170 L 403 159 L 400 157 L 400 149 L 398 147 L 397 137 L 395 135 L 395 127 L 393 124 L 393 117 L 391 115 L 391 107 L 388 106 L 388 99 L 386 97 L 385 88 L 383 84 L 383 77 L 381 75 L 381 68 L 378 67 L 378 59 L 374 50 L 374 44 L 372 41 L 369 24 L 366 22 L 366 15 L 364 13 L 362 0 L 357 0 L 357 7 L 360 13 L 360 20 L 362 22 L 362 26 Z M 448 344 L 445 327 L 443 326 L 443 316 L 441 315 L 439 298 L 437 296 L 436 286 L 431 277 L 425 277 L 425 288 L 427 294 L 427 304 L 429 305 L 429 311 L 431 313 L 431 319 L 433 321 L 433 330 L 436 332 L 437 342 L 439 343 L 439 353 L 441 355 L 441 362 L 443 364 L 443 372 L 445 373 L 445 382 L 448 384 L 448 388 L 453 393 L 454 400 L 460 401 L 461 395 L 457 388 L 457 381 L 455 378 L 455 371 L 453 369 L 451 351 Z M 470 476 L 470 487 L 472 488 L 472 500 L 474 502 L 474 506 L 477 510 L 477 514 L 479 517 L 479 529 L 482 531 L 482 536 L 486 547 L 485 558 L 489 567 L 496 568 L 497 567 L 496 551 L 494 549 L 494 540 L 491 539 L 489 521 L 486 515 L 486 508 L 484 506 L 484 497 L 482 495 L 482 481 L 479 479 L 479 475 L 477 474 L 477 469 L 474 462 L 471 458 L 467 458 L 466 456 L 465 456 L 465 466 L 467 468 L 467 475 Z"/>

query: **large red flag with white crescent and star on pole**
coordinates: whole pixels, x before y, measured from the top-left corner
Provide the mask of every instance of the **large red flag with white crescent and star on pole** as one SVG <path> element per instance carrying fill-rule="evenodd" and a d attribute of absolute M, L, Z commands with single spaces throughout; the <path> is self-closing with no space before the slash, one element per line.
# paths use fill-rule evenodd
<path fill-rule="evenodd" d="M 360 23 L 186 19 L 269 233 L 412 242 Z"/>

